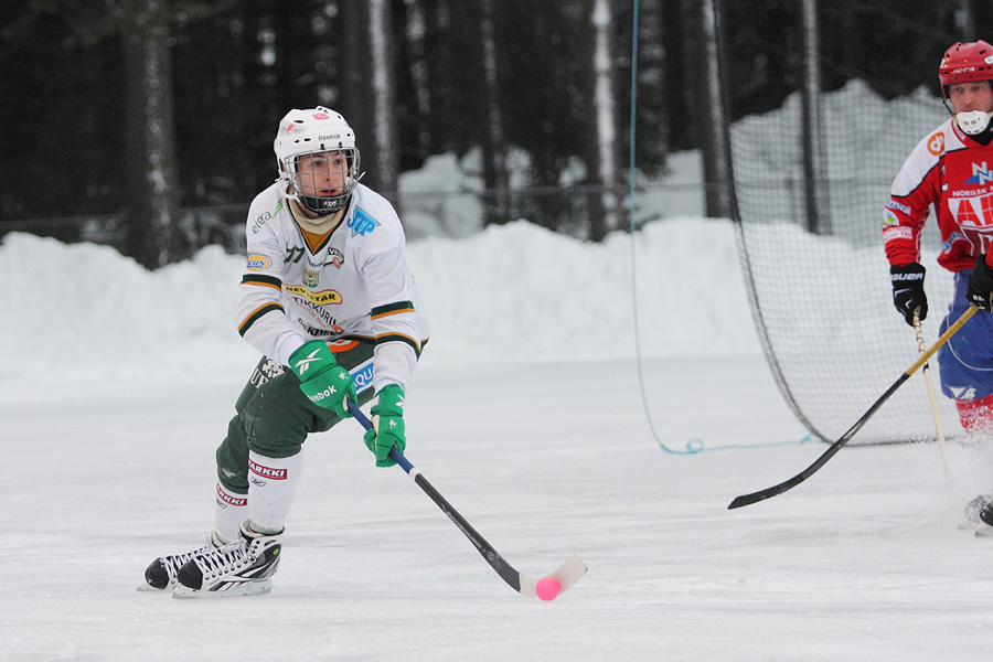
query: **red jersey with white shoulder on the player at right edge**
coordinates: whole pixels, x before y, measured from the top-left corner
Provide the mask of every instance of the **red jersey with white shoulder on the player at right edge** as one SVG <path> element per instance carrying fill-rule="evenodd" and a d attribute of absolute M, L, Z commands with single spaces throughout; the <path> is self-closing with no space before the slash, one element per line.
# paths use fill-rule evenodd
<path fill-rule="evenodd" d="M 952 118 L 917 143 L 893 182 L 883 221 L 890 265 L 920 261 L 931 205 L 941 232 L 938 264 L 971 269 L 993 243 L 993 142 L 976 142 Z"/>

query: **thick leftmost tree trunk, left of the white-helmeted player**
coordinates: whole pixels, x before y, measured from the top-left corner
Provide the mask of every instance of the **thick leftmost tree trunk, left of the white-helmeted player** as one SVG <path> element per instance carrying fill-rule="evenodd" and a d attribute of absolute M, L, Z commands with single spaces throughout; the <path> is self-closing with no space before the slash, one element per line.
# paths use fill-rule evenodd
<path fill-rule="evenodd" d="M 149 269 L 185 257 L 172 107 L 168 0 L 130 0 L 122 31 L 127 250 Z"/>

